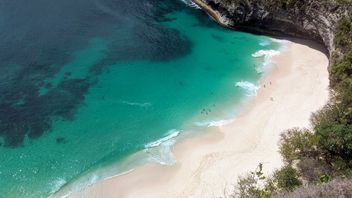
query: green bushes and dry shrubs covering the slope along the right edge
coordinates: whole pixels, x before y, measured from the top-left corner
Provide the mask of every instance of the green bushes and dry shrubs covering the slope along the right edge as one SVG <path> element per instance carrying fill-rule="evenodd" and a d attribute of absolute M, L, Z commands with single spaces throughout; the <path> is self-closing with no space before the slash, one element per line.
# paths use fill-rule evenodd
<path fill-rule="evenodd" d="M 337 24 L 334 44 L 331 101 L 312 116 L 311 131 L 294 128 L 281 135 L 285 166 L 269 177 L 255 172 L 240 178 L 239 197 L 352 196 L 352 22 L 347 17 Z"/>

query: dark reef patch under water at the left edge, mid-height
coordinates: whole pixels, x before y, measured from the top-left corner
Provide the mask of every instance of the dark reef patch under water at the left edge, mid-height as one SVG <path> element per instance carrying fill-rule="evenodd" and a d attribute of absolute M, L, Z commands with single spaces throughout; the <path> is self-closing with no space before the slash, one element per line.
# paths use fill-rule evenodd
<path fill-rule="evenodd" d="M 48 67 L 35 67 L 26 75 L 20 73 L 13 79 L 12 86 L 0 88 L 0 136 L 4 146 L 20 146 L 26 136 L 30 139 L 40 137 L 51 129 L 54 117 L 72 119 L 84 101 L 84 94 L 91 85 L 88 79 L 64 80 L 46 94 L 39 95 L 41 82 L 45 79 L 42 72 L 47 72 Z"/>

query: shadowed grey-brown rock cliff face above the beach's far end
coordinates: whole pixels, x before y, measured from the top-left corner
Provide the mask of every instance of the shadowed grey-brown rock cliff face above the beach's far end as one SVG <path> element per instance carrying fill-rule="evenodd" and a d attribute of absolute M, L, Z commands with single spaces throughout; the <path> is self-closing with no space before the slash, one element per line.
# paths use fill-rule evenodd
<path fill-rule="evenodd" d="M 209 6 L 217 13 L 218 21 L 228 27 L 312 39 L 324 44 L 330 54 L 335 51 L 333 41 L 338 20 L 343 16 L 352 18 L 351 3 L 341 4 L 335 0 L 197 1 Z"/>

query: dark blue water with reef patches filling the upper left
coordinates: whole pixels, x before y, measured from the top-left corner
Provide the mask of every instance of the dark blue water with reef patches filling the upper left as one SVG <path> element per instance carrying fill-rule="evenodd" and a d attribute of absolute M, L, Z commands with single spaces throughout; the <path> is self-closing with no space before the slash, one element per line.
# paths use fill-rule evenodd
<path fill-rule="evenodd" d="M 0 146 L 23 146 L 26 138 L 50 131 L 53 120 L 73 120 L 85 94 L 108 65 L 171 61 L 190 53 L 188 38 L 162 25 L 174 20 L 168 13 L 181 9 L 185 9 L 182 2 L 169 0 L 1 3 Z M 87 76 L 75 78 L 68 71 L 61 81 L 52 83 L 62 67 L 74 61 L 75 52 L 95 38 L 108 46 Z"/>

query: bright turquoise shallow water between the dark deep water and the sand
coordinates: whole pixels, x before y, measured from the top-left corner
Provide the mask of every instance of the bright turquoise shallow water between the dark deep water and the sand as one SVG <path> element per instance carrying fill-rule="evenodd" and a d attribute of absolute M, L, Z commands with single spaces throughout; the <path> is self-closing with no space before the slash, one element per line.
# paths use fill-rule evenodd
<path fill-rule="evenodd" d="M 56 104 L 49 105 L 55 112 L 52 116 L 39 117 L 42 123 L 50 120 L 46 124 L 50 127 L 45 126 L 39 135 L 30 132 L 16 144 L 7 143 L 8 137 L 2 134 L 1 196 L 46 197 L 87 173 L 98 177 L 88 178 L 91 181 L 111 176 L 92 173 L 118 164 L 146 146 L 158 146 L 155 141 L 166 136 L 182 135 L 190 129 L 201 131 L 214 121 L 231 119 L 238 104 L 254 94 L 260 78 L 257 67 L 264 59 L 252 54 L 277 49 L 278 45 L 267 37 L 223 29 L 201 11 L 179 2 L 166 4 L 166 8 L 170 5 L 172 9 L 157 15 L 159 19 L 153 22 L 161 28 L 159 32 L 139 30 L 138 35 L 153 45 L 131 36 L 133 27 L 126 23 L 128 31 L 89 35 L 86 42 L 69 51 L 71 58 L 51 64 L 57 69 L 36 84 L 43 100 L 26 114 L 35 118 L 44 111 L 39 106 Z M 148 24 L 148 20 L 139 23 Z M 154 37 L 167 32 L 177 39 Z M 111 43 L 119 43 L 120 48 Z M 140 49 L 144 51 L 132 53 Z M 153 58 L 146 58 L 149 56 Z M 238 87 L 238 82 L 249 87 Z M 63 94 L 51 96 L 55 88 Z M 16 104 L 28 103 L 27 97 L 22 100 Z M 129 160 L 113 173 L 148 160 L 172 165 L 174 159 L 157 156 L 163 154 L 145 152 L 141 156 L 144 161 Z"/>

